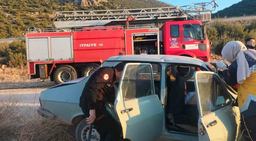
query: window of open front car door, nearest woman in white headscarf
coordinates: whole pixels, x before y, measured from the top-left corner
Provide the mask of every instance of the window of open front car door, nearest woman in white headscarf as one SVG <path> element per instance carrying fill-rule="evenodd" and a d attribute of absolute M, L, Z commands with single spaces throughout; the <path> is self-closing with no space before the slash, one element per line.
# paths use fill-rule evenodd
<path fill-rule="evenodd" d="M 231 102 L 225 87 L 214 74 L 199 73 L 196 81 L 202 116 L 225 107 Z"/>

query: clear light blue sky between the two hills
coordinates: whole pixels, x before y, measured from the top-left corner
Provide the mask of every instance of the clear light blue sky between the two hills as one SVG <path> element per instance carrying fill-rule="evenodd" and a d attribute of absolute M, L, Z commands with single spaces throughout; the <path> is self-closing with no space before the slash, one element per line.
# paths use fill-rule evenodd
<path fill-rule="evenodd" d="M 186 6 L 191 5 L 192 3 L 201 3 L 201 2 L 211 2 L 212 0 L 159 0 L 161 2 L 166 2 L 168 4 L 172 5 L 178 5 L 178 6 Z M 215 11 L 212 13 L 216 13 L 219 10 L 222 10 L 226 7 L 230 7 L 233 4 L 236 4 L 238 2 L 241 2 L 242 0 L 216 0 L 219 7 L 216 8 Z M 213 4 L 213 2 L 212 2 Z"/>

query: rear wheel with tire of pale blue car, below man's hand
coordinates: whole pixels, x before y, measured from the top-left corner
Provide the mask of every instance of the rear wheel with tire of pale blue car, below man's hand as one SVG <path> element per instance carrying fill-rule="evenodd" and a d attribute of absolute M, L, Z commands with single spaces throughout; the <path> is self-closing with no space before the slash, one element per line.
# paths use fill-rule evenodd
<path fill-rule="evenodd" d="M 76 141 L 85 141 L 89 134 L 90 125 L 87 124 L 86 118 L 82 119 L 76 127 Z M 82 138 L 82 136 L 84 136 Z M 92 129 L 91 141 L 100 141 L 100 134 L 96 129 Z"/>

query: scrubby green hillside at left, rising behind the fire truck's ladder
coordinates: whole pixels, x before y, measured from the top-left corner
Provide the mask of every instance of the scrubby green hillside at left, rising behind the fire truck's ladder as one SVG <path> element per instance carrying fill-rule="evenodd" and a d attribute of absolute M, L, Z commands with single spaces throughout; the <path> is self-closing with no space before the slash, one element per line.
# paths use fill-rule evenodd
<path fill-rule="evenodd" d="M 0 0 L 0 38 L 24 37 L 26 29 L 51 27 L 54 11 L 170 7 L 157 0 Z"/>

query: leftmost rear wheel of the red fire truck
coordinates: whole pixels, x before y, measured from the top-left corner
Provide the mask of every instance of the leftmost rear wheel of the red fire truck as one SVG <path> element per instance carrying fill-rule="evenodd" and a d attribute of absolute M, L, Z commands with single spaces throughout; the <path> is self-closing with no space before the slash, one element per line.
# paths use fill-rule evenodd
<path fill-rule="evenodd" d="M 63 82 L 77 79 L 78 73 L 76 69 L 70 65 L 61 65 L 56 68 L 53 78 L 56 85 L 58 85 Z"/>

